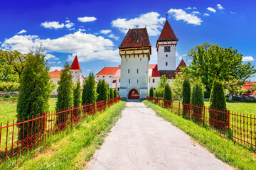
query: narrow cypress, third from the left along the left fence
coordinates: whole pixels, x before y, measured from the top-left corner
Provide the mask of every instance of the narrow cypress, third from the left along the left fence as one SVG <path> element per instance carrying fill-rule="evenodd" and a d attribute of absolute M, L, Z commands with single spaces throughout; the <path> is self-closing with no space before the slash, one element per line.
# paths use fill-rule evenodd
<path fill-rule="evenodd" d="M 74 89 L 74 107 L 79 107 L 82 103 L 82 89 L 80 85 L 80 81 L 77 81 L 77 84 Z M 77 108 L 73 111 L 74 118 L 80 115 L 80 108 Z"/>

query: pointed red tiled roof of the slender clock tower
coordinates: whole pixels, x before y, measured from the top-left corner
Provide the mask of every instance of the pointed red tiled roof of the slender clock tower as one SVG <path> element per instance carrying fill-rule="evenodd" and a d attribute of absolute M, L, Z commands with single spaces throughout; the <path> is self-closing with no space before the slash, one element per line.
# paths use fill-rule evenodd
<path fill-rule="evenodd" d="M 159 39 L 156 41 L 156 47 L 157 47 L 157 44 L 159 41 L 164 41 L 164 40 L 178 41 L 178 38 L 176 38 L 174 30 L 171 28 L 171 26 L 167 20 L 166 20 L 166 23 L 164 23 L 164 28 L 161 31 Z"/>

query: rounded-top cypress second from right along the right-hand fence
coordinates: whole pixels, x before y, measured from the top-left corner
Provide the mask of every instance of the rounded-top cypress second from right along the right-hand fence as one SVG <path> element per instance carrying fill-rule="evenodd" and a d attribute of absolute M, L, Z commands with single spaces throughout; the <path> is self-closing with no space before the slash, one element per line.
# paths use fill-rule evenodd
<path fill-rule="evenodd" d="M 191 94 L 191 110 L 193 111 L 192 117 L 201 120 L 203 108 L 193 107 L 193 106 L 201 106 L 203 107 L 204 94 L 203 94 L 203 86 L 200 81 L 196 81 L 193 84 L 192 94 Z"/>

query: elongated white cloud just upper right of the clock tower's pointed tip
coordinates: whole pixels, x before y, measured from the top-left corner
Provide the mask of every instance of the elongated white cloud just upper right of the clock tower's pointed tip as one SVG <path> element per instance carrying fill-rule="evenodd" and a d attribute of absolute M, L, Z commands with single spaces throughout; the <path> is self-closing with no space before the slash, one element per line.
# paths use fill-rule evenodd
<path fill-rule="evenodd" d="M 186 11 L 183 11 L 182 9 L 174 9 L 171 8 L 168 13 L 171 13 L 171 15 L 176 19 L 176 21 L 183 20 L 186 23 L 190 23 L 196 26 L 200 26 L 201 18 L 198 18 L 198 16 L 195 16 L 193 13 L 186 13 Z"/>

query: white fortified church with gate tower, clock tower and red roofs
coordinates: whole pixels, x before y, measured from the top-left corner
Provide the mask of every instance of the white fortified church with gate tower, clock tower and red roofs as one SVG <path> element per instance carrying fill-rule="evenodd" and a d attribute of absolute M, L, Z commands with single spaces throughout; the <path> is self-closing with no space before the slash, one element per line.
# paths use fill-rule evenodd
<path fill-rule="evenodd" d="M 119 46 L 121 66 L 105 67 L 95 80 L 105 79 L 112 89 L 117 89 L 123 99 L 146 98 L 149 89 L 157 86 L 162 75 L 171 83 L 175 73 L 186 67 L 183 60 L 176 68 L 176 44 L 178 38 L 166 20 L 156 42 L 157 64 L 149 64 L 151 44 L 146 28 L 129 29 Z"/>

